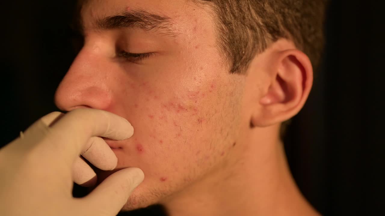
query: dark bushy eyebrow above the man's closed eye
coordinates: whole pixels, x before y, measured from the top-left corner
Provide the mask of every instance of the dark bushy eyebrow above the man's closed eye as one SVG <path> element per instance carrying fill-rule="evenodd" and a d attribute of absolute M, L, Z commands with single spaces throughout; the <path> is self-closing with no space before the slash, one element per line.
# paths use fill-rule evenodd
<path fill-rule="evenodd" d="M 109 17 L 97 18 L 94 27 L 99 30 L 134 28 L 153 32 L 159 31 L 168 36 L 177 35 L 174 33 L 171 18 L 145 10 L 130 10 Z"/>

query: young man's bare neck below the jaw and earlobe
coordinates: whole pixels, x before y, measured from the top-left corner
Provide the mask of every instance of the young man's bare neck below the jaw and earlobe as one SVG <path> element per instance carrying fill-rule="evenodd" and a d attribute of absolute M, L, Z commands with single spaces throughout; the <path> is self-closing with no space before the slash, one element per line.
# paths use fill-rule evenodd
<path fill-rule="evenodd" d="M 168 200 L 169 215 L 318 215 L 290 174 L 279 126 L 272 127 L 251 131 L 220 169 Z"/>

